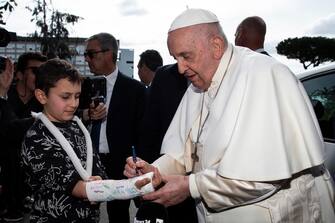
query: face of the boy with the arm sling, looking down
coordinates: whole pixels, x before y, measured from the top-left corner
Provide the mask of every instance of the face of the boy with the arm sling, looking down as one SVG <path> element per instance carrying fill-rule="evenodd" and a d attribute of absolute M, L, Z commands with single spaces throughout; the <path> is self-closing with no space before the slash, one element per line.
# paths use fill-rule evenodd
<path fill-rule="evenodd" d="M 57 81 L 55 87 L 49 89 L 49 94 L 42 92 L 44 97 L 39 99 L 44 114 L 53 122 L 71 120 L 79 105 L 80 92 L 80 83 L 71 83 L 68 79 Z"/>

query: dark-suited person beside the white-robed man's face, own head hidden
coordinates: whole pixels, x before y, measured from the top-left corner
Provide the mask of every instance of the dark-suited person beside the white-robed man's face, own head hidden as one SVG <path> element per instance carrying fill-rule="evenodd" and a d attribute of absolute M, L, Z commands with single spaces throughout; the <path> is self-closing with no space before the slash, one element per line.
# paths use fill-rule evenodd
<path fill-rule="evenodd" d="M 167 65 L 156 71 L 150 86 L 148 102 L 143 118 L 139 157 L 153 162 L 160 156 L 164 135 L 188 87 L 184 75 L 178 72 L 177 64 Z M 198 222 L 194 200 L 167 208 L 169 222 Z"/>

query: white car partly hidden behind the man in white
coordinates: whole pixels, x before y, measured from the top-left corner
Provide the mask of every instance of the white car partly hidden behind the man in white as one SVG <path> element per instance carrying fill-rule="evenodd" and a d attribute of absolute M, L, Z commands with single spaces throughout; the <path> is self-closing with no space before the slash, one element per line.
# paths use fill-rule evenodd
<path fill-rule="evenodd" d="M 309 95 L 326 146 L 326 166 L 335 179 L 335 63 L 297 74 Z"/>

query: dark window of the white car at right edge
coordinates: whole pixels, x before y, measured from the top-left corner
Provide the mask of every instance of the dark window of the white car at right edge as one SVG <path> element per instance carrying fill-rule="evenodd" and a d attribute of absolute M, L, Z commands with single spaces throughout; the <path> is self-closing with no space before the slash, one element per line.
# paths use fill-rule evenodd
<path fill-rule="evenodd" d="M 303 79 L 325 141 L 335 141 L 335 71 Z"/>

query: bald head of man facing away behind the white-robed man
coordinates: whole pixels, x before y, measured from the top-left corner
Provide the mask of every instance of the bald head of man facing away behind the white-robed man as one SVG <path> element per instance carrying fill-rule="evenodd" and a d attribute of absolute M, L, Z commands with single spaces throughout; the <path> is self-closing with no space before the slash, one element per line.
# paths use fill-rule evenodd
<path fill-rule="evenodd" d="M 253 51 L 268 55 L 264 50 L 266 24 L 259 16 L 245 18 L 235 32 L 235 45 L 244 46 Z"/>

